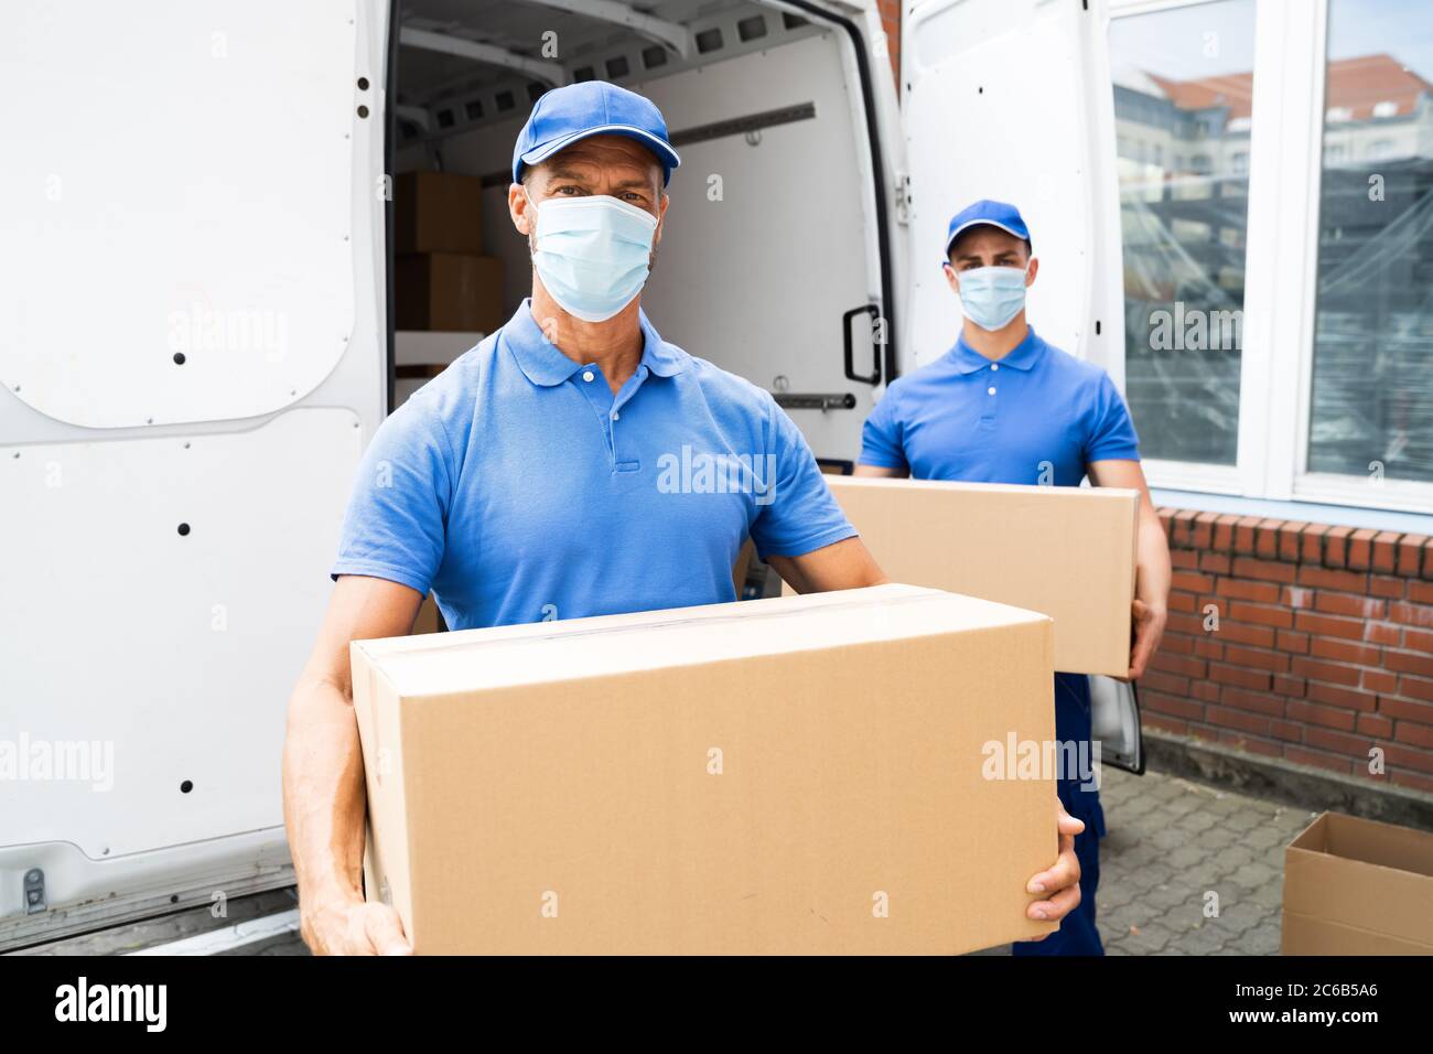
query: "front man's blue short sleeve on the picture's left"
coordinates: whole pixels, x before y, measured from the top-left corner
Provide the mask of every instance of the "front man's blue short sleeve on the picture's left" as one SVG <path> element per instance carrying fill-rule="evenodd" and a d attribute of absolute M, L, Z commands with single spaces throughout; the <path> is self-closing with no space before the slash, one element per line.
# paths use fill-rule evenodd
<path fill-rule="evenodd" d="M 354 478 L 331 575 L 371 575 L 427 594 L 443 562 L 450 449 L 426 399 L 380 427 Z"/>

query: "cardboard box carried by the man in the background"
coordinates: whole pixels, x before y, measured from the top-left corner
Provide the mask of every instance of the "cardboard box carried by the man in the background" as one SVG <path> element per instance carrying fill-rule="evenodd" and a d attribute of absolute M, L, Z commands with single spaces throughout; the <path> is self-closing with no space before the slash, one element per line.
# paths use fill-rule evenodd
<path fill-rule="evenodd" d="M 1138 490 L 825 482 L 893 581 L 1043 612 L 1055 619 L 1056 670 L 1129 673 Z"/>

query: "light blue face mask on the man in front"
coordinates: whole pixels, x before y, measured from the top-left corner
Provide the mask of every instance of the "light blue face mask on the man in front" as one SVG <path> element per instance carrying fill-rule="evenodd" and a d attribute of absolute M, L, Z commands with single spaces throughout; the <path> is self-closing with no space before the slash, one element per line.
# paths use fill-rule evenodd
<path fill-rule="evenodd" d="M 537 214 L 533 264 L 563 311 L 606 321 L 642 291 L 656 217 L 608 195 L 527 204 Z"/>

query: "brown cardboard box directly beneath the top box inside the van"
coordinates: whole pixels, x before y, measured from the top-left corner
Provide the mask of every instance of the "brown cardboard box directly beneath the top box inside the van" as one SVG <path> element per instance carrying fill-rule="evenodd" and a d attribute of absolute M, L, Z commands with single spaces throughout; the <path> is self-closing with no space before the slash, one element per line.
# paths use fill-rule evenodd
<path fill-rule="evenodd" d="M 396 257 L 394 318 L 400 330 L 492 333 L 503 311 L 503 261 L 457 252 Z"/>

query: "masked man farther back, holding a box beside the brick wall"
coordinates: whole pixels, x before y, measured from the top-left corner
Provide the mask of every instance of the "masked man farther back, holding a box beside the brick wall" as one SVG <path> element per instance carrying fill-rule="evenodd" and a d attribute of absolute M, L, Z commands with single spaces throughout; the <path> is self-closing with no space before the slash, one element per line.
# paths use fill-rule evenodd
<path fill-rule="evenodd" d="M 1169 551 L 1139 467 L 1139 440 L 1125 400 L 1098 366 L 1040 340 L 1025 320 L 1025 291 L 1039 261 L 1019 209 L 977 201 L 959 212 L 941 261 L 960 297 L 964 326 L 941 359 L 891 383 L 866 422 L 858 476 L 914 476 L 982 483 L 1138 489 L 1135 640 L 1129 677 L 1144 674 L 1159 645 L 1169 597 Z M 1089 678 L 1055 675 L 1062 741 L 1091 739 Z M 1083 754 L 1080 754 L 1083 756 Z M 1085 822 L 1075 839 L 1080 905 L 1049 939 L 1016 955 L 1101 955 L 1095 928 L 1099 837 L 1105 815 L 1083 777 L 1060 779 L 1060 802 Z"/>

